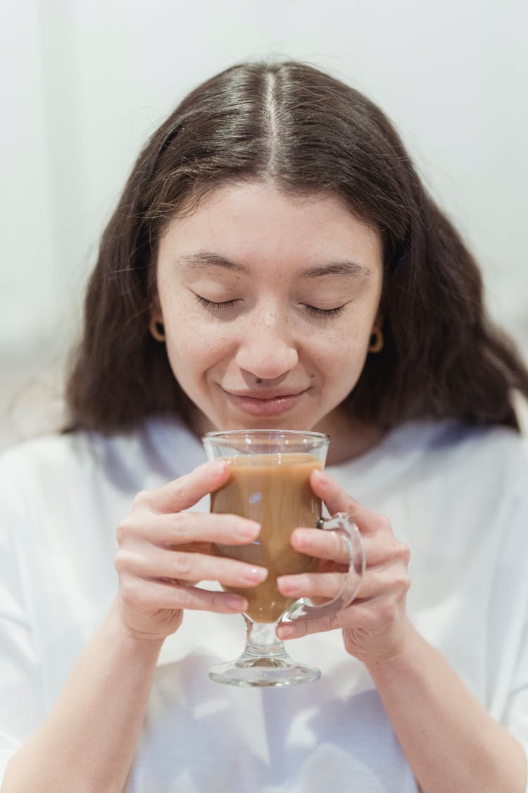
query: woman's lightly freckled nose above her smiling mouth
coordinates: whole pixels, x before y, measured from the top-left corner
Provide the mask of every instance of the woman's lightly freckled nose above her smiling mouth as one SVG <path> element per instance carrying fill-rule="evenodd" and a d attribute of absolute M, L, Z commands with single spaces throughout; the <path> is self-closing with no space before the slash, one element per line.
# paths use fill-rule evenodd
<path fill-rule="evenodd" d="M 246 326 L 236 362 L 241 370 L 262 380 L 291 371 L 298 362 L 298 351 L 286 317 L 268 312 Z"/>

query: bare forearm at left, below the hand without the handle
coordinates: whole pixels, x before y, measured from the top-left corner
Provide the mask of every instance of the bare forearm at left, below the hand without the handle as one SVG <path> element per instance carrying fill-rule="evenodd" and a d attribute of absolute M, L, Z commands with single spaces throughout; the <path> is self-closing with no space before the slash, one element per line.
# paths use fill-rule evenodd
<path fill-rule="evenodd" d="M 49 717 L 10 760 L 2 793 L 120 793 L 160 648 L 127 635 L 112 607 Z"/>

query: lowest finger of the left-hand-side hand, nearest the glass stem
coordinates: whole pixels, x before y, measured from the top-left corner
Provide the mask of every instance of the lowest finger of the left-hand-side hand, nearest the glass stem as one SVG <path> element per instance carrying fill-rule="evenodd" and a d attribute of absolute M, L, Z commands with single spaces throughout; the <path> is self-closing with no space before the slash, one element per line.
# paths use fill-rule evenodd
<path fill-rule="evenodd" d="M 245 597 L 231 592 L 210 592 L 207 589 L 161 581 L 138 581 L 131 578 L 120 586 L 127 607 L 141 611 L 159 609 L 191 609 L 215 611 L 218 614 L 241 614 L 248 608 Z"/>

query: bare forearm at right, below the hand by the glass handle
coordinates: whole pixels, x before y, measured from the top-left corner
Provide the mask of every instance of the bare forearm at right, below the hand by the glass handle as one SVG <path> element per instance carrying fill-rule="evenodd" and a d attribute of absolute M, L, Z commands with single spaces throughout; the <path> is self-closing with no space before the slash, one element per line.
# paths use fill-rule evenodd
<path fill-rule="evenodd" d="M 401 655 L 368 668 L 424 793 L 524 793 L 519 741 L 416 630 Z"/>

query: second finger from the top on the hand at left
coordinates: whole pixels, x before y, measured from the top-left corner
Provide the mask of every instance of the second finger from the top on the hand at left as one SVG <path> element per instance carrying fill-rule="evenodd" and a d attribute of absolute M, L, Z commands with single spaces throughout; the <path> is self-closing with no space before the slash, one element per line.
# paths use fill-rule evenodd
<path fill-rule="evenodd" d="M 244 545 L 254 542 L 260 523 L 239 515 L 217 515 L 210 512 L 169 512 L 152 515 L 134 512 L 120 523 L 117 540 L 120 546 L 145 540 L 159 546 L 190 545 L 193 542 L 220 542 L 223 545 Z"/>

